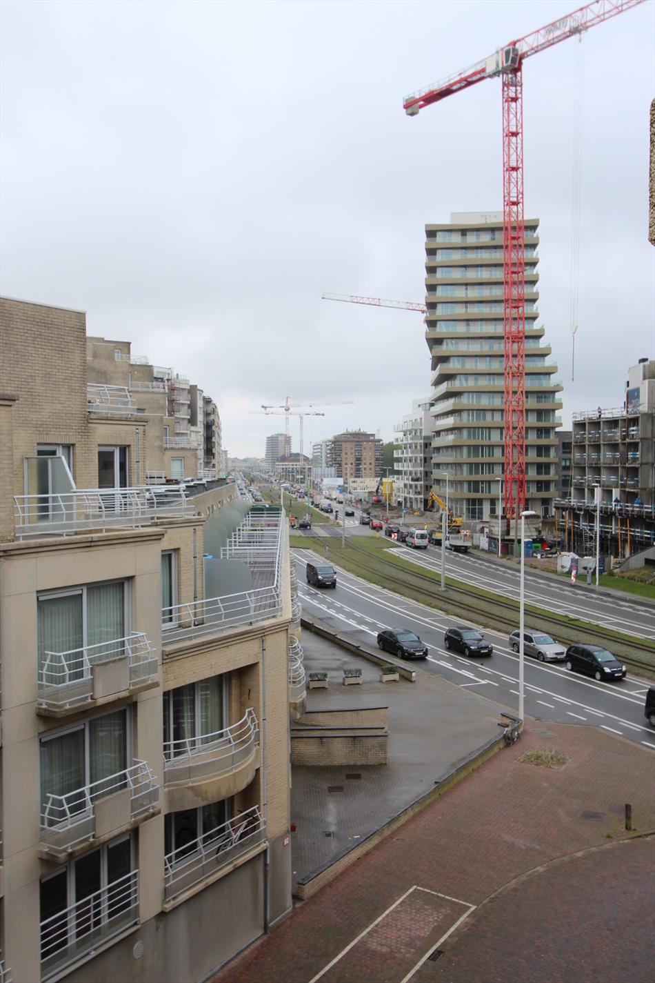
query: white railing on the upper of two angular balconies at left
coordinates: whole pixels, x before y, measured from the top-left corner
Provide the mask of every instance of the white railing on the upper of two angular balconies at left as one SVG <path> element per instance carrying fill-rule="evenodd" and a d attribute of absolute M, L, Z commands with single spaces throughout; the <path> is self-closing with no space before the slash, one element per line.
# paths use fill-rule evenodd
<path fill-rule="evenodd" d="M 142 631 L 68 652 L 46 650 L 37 671 L 38 702 L 61 709 L 85 703 L 93 698 L 96 666 L 117 667 L 119 660 L 127 668 L 122 681 L 128 683 L 128 688 L 148 682 L 157 674 L 155 651 Z"/>

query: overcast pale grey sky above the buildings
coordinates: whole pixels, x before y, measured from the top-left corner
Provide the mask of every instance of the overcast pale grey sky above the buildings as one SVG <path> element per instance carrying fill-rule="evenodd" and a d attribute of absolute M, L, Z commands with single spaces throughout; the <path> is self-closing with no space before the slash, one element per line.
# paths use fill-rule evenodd
<path fill-rule="evenodd" d="M 224 444 L 263 455 L 261 403 L 354 400 L 305 418 L 305 449 L 385 439 L 429 391 L 424 225 L 502 207 L 501 85 L 415 118 L 414 89 L 574 9 L 573 0 L 162 3 L 4 0 L 5 296 L 82 309 L 218 403 Z M 654 10 L 583 48 L 579 329 L 571 380 L 578 42 L 525 61 L 525 213 L 540 219 L 539 323 L 575 410 L 621 405 L 654 355 L 647 240 Z M 298 449 L 298 419 L 292 421 Z"/>

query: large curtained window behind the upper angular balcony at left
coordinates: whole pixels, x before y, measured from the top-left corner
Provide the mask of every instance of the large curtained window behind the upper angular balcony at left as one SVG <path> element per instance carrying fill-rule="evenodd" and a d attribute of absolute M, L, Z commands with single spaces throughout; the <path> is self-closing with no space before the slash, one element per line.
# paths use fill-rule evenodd
<path fill-rule="evenodd" d="M 128 634 L 130 612 L 127 581 L 88 584 L 42 594 L 36 601 L 39 675 L 61 683 L 80 679 L 89 671 L 82 649 L 93 661 L 121 654 L 117 641 Z"/>

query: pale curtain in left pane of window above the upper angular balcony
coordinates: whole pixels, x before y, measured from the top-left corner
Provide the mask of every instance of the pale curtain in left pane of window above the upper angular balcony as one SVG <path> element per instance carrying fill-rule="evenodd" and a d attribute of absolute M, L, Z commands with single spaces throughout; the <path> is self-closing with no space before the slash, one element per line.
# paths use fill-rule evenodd
<path fill-rule="evenodd" d="M 65 683 L 80 679 L 82 653 L 82 592 L 59 598 L 39 598 L 36 605 L 38 667 L 46 683 Z M 46 657 L 46 652 L 63 654 Z M 68 669 L 68 675 L 65 671 Z"/>

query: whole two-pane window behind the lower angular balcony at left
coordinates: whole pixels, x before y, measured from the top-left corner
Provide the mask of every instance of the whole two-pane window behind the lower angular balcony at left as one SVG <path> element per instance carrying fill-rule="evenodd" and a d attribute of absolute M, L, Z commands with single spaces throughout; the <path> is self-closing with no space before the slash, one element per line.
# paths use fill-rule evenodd
<path fill-rule="evenodd" d="M 91 801 L 123 787 L 117 780 L 128 768 L 132 717 L 128 708 L 93 717 L 64 731 L 42 735 L 39 742 L 41 823 L 56 827 L 71 814 L 88 808 L 85 788 L 93 785 Z"/>

